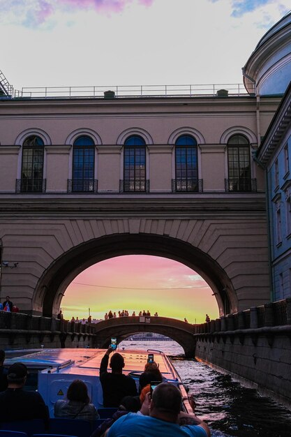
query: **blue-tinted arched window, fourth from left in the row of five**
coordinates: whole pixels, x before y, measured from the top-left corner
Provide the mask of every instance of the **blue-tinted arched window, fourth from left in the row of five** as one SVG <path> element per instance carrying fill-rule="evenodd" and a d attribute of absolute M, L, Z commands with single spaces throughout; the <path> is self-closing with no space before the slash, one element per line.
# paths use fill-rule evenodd
<path fill-rule="evenodd" d="M 199 191 L 197 142 L 190 135 L 181 135 L 175 142 L 175 170 L 173 191 Z"/>

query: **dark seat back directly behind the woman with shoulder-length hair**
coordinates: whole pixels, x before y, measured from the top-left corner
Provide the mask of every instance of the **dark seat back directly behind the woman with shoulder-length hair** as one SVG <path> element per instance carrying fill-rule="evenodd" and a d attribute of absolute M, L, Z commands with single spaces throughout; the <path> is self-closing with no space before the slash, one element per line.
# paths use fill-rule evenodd
<path fill-rule="evenodd" d="M 91 436 L 91 422 L 83 419 L 50 418 L 50 434 L 68 434 L 76 437 Z"/>

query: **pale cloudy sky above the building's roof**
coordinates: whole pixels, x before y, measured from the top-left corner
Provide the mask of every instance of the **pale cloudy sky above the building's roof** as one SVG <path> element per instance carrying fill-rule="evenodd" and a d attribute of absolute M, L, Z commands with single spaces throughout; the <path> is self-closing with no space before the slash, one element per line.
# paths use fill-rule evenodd
<path fill-rule="evenodd" d="M 0 70 L 22 87 L 241 83 L 290 0 L 0 0 Z"/>

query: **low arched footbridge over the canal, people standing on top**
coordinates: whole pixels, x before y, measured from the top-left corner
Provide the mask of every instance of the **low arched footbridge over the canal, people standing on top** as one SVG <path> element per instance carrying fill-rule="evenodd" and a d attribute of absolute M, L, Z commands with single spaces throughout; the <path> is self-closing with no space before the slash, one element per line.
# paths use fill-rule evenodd
<path fill-rule="evenodd" d="M 128 336 L 139 332 L 154 332 L 163 334 L 177 341 L 184 349 L 186 357 L 195 355 L 194 326 L 181 320 L 167 317 L 119 317 L 97 323 L 96 347 L 108 348 L 111 337 L 117 338 L 117 343 Z"/>

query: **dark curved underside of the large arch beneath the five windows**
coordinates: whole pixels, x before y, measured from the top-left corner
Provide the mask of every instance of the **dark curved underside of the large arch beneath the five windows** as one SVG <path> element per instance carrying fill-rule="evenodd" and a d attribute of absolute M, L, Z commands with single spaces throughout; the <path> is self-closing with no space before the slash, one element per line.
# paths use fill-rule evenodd
<path fill-rule="evenodd" d="M 69 283 L 87 267 L 119 255 L 157 255 L 177 260 L 200 274 L 214 291 L 221 316 L 237 311 L 237 295 L 223 268 L 211 256 L 188 242 L 156 234 L 114 234 L 91 239 L 59 256 L 47 267 L 36 286 L 32 306 L 43 316 L 56 315 Z"/>

